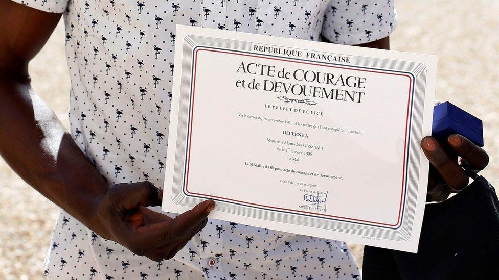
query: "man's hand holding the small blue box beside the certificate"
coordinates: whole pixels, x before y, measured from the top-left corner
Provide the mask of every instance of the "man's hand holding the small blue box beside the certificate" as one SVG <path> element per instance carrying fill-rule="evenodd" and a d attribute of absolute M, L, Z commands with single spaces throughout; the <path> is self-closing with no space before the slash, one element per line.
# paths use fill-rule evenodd
<path fill-rule="evenodd" d="M 470 176 L 474 177 L 489 163 L 487 152 L 459 134 L 450 135 L 446 143 L 426 136 L 421 147 L 432 163 L 427 201 L 443 201 L 450 193 L 460 192 L 468 186 Z"/>

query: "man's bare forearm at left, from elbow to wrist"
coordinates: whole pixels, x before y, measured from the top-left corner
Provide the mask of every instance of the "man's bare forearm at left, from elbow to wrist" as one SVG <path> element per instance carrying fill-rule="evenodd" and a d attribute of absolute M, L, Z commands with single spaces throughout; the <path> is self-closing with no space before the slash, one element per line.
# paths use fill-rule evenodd
<path fill-rule="evenodd" d="M 105 234 L 95 210 L 107 184 L 67 134 L 29 77 L 0 73 L 0 155 L 29 185 L 80 220 Z"/>

